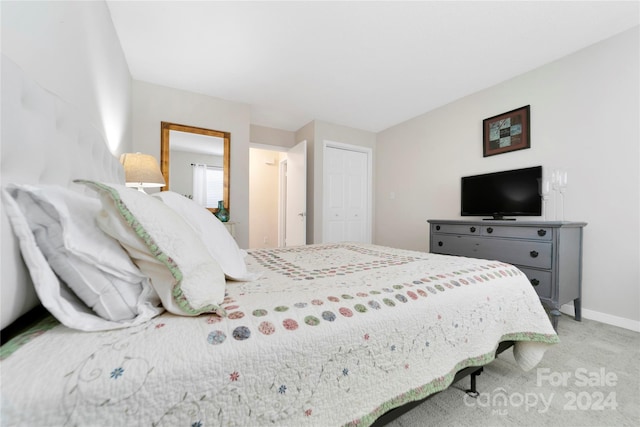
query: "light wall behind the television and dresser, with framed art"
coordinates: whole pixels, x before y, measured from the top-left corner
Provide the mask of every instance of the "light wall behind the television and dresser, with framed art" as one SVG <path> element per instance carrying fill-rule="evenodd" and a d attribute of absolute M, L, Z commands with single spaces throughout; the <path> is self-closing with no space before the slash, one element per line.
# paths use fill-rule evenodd
<path fill-rule="evenodd" d="M 380 132 L 376 243 L 427 251 L 427 219 L 460 217 L 461 176 L 562 167 L 565 219 L 588 222 L 583 315 L 638 329 L 639 52 L 636 27 Z M 531 148 L 483 158 L 482 120 L 527 104 Z"/>

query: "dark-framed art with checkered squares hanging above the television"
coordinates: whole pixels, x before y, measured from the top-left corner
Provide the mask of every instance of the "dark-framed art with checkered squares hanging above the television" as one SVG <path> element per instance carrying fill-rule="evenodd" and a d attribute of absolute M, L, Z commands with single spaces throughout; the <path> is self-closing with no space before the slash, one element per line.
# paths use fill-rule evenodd
<path fill-rule="evenodd" d="M 483 157 L 531 147 L 529 105 L 482 121 Z"/>

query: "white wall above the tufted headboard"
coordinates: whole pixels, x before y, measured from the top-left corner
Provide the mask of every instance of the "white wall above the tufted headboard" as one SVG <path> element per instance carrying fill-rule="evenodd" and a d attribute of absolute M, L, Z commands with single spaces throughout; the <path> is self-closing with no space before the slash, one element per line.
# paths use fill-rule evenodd
<path fill-rule="evenodd" d="M 131 151 L 131 75 L 104 2 L 3 1 L 2 53 Z"/>

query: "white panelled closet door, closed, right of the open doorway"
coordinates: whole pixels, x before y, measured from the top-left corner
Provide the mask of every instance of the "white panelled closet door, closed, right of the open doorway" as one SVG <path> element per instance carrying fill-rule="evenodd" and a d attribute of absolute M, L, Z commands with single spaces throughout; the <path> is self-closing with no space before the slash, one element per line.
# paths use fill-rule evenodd
<path fill-rule="evenodd" d="M 324 242 L 370 242 L 369 154 L 327 146 Z"/>

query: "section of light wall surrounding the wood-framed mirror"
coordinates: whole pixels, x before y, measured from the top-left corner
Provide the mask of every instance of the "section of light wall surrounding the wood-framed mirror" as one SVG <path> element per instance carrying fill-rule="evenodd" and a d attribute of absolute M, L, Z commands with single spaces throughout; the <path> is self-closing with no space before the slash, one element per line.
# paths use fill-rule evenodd
<path fill-rule="evenodd" d="M 231 133 L 231 221 L 238 245 L 249 244 L 250 107 L 206 95 L 133 81 L 133 149 L 160 160 L 160 123 L 172 122 Z"/>

